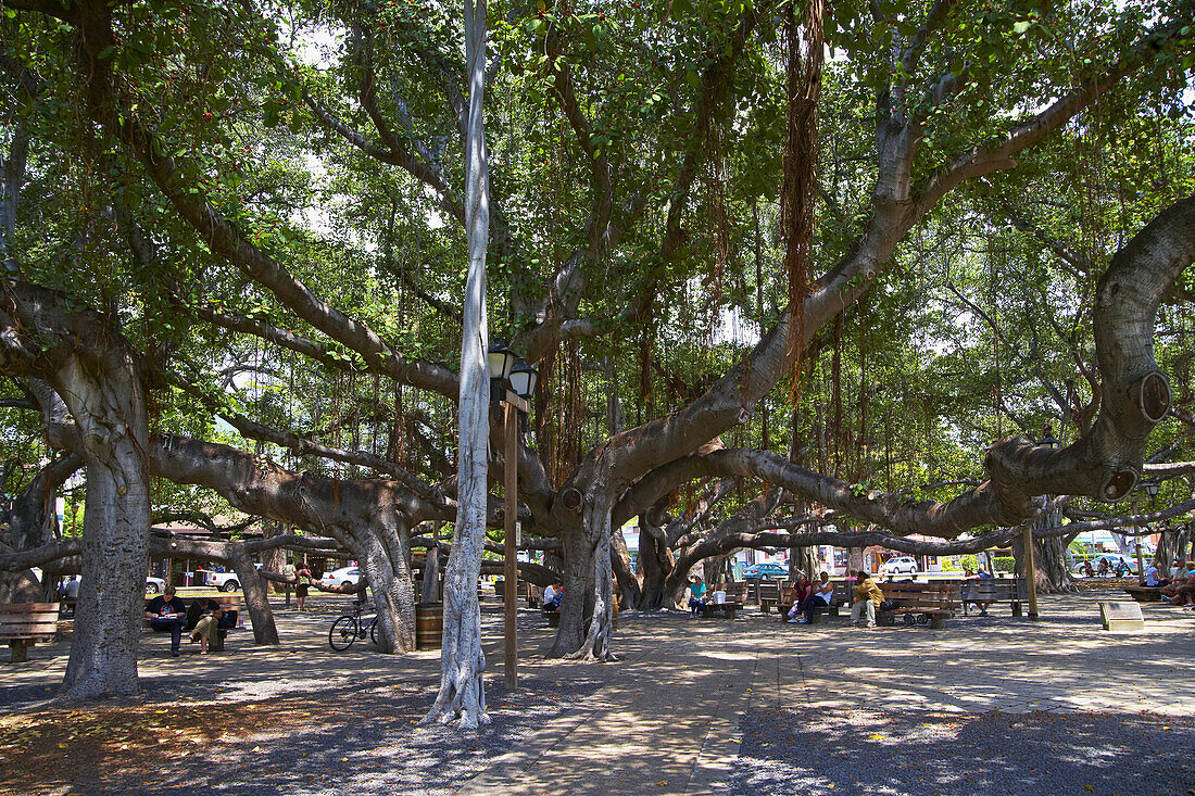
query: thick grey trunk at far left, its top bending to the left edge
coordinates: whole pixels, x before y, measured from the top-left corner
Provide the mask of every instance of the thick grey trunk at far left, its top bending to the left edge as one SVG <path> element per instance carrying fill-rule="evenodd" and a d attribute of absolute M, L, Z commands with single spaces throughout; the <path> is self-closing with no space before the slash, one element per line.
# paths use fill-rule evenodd
<path fill-rule="evenodd" d="M 114 319 L 74 311 L 62 294 L 6 283 L 0 371 L 44 379 L 54 388 L 79 429 L 87 467 L 82 581 L 62 693 L 69 699 L 136 693 L 149 434 L 131 350 Z"/>

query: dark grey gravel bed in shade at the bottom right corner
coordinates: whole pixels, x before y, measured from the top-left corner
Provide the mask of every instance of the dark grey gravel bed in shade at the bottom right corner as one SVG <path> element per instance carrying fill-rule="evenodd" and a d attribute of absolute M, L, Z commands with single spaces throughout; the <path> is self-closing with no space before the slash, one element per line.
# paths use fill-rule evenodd
<path fill-rule="evenodd" d="M 736 795 L 1195 794 L 1195 718 L 753 710 Z"/>

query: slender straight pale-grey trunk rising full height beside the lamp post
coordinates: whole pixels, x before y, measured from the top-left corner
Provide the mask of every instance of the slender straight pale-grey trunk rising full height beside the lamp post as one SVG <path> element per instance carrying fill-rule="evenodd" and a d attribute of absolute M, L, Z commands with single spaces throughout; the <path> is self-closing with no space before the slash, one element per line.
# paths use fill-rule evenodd
<path fill-rule="evenodd" d="M 445 576 L 443 651 L 440 691 L 424 722 L 455 722 L 460 729 L 489 724 L 485 710 L 485 654 L 477 578 L 485 545 L 489 445 L 489 371 L 486 367 L 485 247 L 489 243 L 489 164 L 485 153 L 485 0 L 465 0 L 465 48 L 468 73 L 468 122 L 465 134 L 465 206 L 468 281 L 465 284 L 460 347 L 460 433 L 456 472 L 460 480 L 456 529 Z M 607 561 L 606 565 L 609 565 Z"/>

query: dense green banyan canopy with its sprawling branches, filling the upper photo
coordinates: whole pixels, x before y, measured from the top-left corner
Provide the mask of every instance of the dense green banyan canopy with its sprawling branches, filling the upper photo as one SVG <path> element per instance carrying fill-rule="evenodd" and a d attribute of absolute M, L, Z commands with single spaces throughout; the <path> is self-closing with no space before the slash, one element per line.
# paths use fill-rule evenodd
<path fill-rule="evenodd" d="M 461 10 L 4 7 L 5 491 L 71 494 L 5 565 L 118 549 L 133 594 L 151 523 L 256 519 L 350 551 L 410 649 L 411 547 L 451 549 L 459 497 Z M 1190 0 L 478 8 L 557 654 L 611 656 L 612 577 L 660 607 L 744 546 L 1189 539 Z"/>

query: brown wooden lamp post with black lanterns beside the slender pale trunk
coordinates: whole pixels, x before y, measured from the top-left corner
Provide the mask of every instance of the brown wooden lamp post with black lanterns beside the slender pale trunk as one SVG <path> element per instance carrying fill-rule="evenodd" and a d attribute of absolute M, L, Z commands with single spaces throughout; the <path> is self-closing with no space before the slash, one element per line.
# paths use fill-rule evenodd
<path fill-rule="evenodd" d="M 519 617 L 519 424 L 520 416 L 531 414 L 527 399 L 535 390 L 539 372 L 523 362 L 501 339 L 494 341 L 489 350 L 490 366 L 490 402 L 502 409 L 502 424 L 505 434 L 502 459 L 503 478 L 502 523 L 504 558 L 502 577 L 504 593 L 504 635 L 505 635 L 505 682 L 508 688 L 519 685 L 516 662 L 519 656 L 515 638 L 515 622 Z M 509 385 L 509 390 L 507 386 Z"/>

